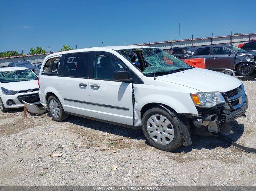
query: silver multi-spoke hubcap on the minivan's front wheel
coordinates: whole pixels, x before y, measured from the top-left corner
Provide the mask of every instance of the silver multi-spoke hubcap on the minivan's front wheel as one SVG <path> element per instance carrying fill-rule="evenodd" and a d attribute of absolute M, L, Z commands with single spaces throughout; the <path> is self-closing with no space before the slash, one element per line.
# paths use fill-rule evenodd
<path fill-rule="evenodd" d="M 162 115 L 152 115 L 147 121 L 149 136 L 160 145 L 172 142 L 175 132 L 171 122 Z"/>

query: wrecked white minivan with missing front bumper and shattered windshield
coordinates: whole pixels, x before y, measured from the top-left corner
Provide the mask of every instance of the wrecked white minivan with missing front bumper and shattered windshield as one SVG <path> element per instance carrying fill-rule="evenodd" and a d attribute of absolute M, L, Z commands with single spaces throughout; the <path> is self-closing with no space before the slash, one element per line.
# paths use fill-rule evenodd
<path fill-rule="evenodd" d="M 237 78 L 194 68 L 148 46 L 48 55 L 38 83 L 41 103 L 53 120 L 71 114 L 142 129 L 151 145 L 165 151 L 191 145 L 191 133 L 229 134 L 229 122 L 248 107 Z"/>

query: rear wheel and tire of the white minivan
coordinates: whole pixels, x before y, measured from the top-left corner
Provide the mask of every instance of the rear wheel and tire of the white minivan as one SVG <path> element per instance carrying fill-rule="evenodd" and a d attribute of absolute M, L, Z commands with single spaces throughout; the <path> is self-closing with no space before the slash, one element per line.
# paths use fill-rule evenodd
<path fill-rule="evenodd" d="M 62 104 L 57 97 L 50 96 L 47 100 L 47 106 L 52 120 L 60 122 L 68 119 L 69 115 L 65 113 Z"/>

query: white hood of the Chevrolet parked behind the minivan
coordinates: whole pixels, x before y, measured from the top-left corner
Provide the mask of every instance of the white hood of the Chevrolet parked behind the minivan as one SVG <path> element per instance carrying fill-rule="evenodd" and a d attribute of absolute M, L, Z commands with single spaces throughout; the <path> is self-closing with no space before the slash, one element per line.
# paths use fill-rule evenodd
<path fill-rule="evenodd" d="M 37 84 L 37 80 L 2 83 L 2 87 L 5 89 L 14 90 L 14 91 L 31 90 L 31 89 L 39 88 Z"/>

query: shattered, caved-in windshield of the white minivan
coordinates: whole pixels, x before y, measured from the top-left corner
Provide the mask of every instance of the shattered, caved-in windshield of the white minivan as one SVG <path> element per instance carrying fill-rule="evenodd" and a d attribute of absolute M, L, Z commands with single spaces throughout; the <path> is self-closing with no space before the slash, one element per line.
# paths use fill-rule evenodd
<path fill-rule="evenodd" d="M 117 52 L 145 75 L 172 73 L 193 68 L 170 53 L 157 48 L 123 49 Z M 135 60 L 135 56 L 138 59 Z"/>

